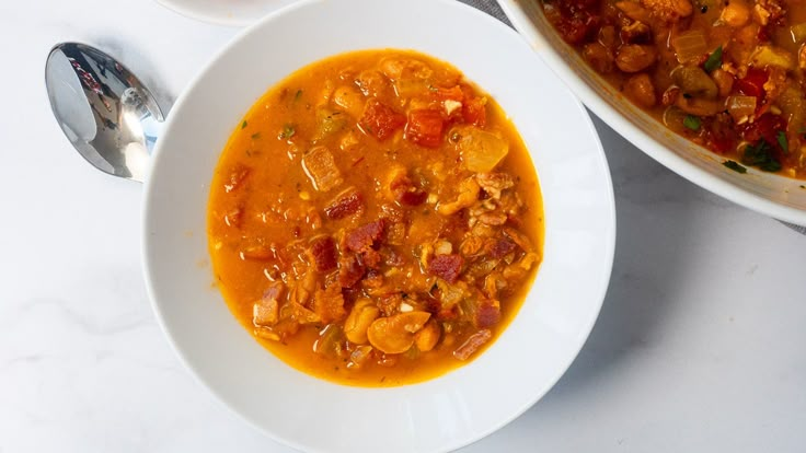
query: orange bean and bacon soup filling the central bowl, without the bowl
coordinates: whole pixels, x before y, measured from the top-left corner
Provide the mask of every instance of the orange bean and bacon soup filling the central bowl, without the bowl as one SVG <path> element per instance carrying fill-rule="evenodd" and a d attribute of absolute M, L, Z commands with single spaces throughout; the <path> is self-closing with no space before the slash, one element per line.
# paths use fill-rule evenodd
<path fill-rule="evenodd" d="M 235 317 L 298 370 L 362 386 L 477 357 L 520 307 L 542 234 L 504 112 L 412 51 L 335 56 L 272 88 L 221 153 L 208 206 Z"/>

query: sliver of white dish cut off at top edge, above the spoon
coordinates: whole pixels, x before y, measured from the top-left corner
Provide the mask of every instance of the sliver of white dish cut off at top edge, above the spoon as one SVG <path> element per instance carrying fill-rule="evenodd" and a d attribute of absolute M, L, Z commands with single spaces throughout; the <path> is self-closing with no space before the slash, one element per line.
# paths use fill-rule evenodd
<path fill-rule="evenodd" d="M 187 18 L 228 26 L 251 25 L 295 1 L 297 0 L 157 0 Z"/>

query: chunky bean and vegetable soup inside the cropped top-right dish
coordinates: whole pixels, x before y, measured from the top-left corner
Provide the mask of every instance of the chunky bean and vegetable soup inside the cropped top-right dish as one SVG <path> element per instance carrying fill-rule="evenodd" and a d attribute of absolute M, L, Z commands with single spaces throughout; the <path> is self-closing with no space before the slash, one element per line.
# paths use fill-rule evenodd
<path fill-rule="evenodd" d="M 802 0 L 542 0 L 587 63 L 671 130 L 806 178 Z"/>

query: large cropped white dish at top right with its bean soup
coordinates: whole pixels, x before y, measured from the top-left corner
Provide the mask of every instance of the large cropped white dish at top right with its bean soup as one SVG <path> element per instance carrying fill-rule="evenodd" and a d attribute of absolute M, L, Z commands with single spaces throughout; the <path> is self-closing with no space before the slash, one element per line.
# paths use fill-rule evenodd
<path fill-rule="evenodd" d="M 502 0 L 527 42 L 633 144 L 705 189 L 806 224 L 806 7 Z"/>

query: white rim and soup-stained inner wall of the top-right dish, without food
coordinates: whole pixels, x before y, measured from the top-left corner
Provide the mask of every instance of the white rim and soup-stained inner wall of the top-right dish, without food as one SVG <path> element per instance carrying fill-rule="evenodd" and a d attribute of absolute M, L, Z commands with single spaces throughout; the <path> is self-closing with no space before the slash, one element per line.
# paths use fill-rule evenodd
<path fill-rule="evenodd" d="M 748 169 L 739 174 L 706 149 L 670 132 L 588 68 L 554 32 L 540 0 L 498 0 L 513 25 L 534 51 L 604 123 L 680 176 L 728 200 L 799 225 L 806 225 L 803 181 Z"/>

